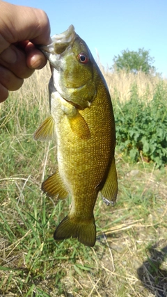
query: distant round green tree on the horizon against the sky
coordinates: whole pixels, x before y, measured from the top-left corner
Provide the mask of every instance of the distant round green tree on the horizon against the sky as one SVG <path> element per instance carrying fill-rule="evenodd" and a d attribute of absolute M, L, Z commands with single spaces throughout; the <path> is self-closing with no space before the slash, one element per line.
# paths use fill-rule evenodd
<path fill-rule="evenodd" d="M 127 72 L 145 72 L 149 74 L 155 71 L 152 66 L 154 58 L 150 56 L 150 52 L 145 49 L 138 49 L 138 51 L 129 51 L 125 49 L 121 51 L 121 55 L 114 56 L 113 67 L 117 70 L 125 70 Z"/>

